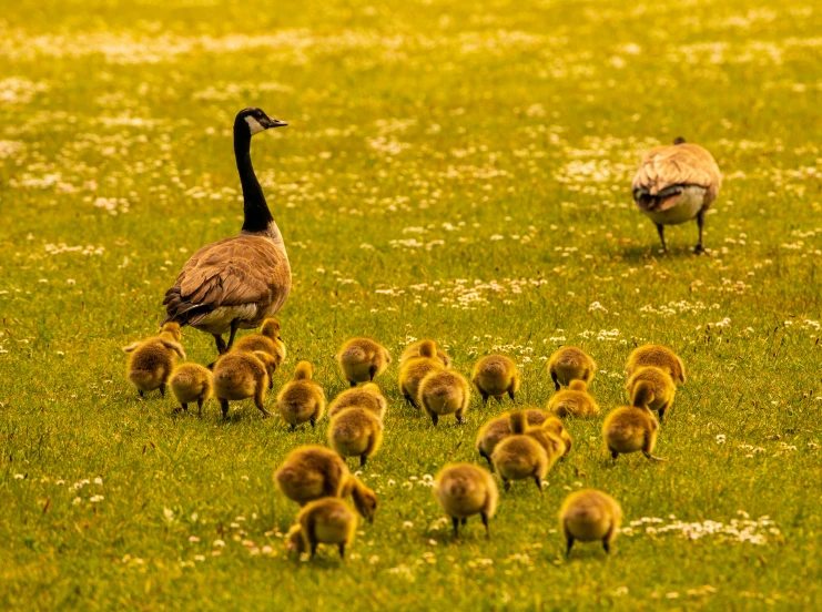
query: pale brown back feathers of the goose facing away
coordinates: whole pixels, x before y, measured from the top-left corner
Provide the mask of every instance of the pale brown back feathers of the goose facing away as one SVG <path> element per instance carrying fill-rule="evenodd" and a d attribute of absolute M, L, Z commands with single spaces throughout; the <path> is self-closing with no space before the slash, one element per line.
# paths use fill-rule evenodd
<path fill-rule="evenodd" d="M 722 176 L 713 156 L 698 144 L 686 143 L 648 151 L 633 177 L 632 191 L 656 196 L 672 185 L 698 185 L 707 190 L 706 205 L 709 205 L 721 184 Z"/>

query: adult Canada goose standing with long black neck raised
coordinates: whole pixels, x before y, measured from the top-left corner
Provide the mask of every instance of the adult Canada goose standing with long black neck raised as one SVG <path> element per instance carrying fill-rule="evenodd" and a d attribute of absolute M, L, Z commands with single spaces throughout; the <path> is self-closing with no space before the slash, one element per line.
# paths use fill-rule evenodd
<path fill-rule="evenodd" d="M 165 292 L 163 323 L 191 325 L 213 335 L 221 355 L 231 348 L 237 329 L 258 327 L 274 316 L 291 290 L 283 236 L 251 165 L 251 137 L 283 125 L 287 123 L 260 109 L 240 111 L 234 120 L 234 155 L 243 186 L 243 228 L 194 253 Z"/>

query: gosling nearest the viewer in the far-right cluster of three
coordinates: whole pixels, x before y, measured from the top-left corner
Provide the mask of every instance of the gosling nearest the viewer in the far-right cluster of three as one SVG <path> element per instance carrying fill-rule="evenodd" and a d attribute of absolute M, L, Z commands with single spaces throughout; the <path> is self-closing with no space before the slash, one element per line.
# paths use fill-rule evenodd
<path fill-rule="evenodd" d="M 664 461 L 663 458 L 651 455 L 659 434 L 657 417 L 646 408 L 652 396 L 649 386 L 638 385 L 635 389 L 635 405 L 616 408 L 606 417 L 602 424 L 602 438 L 615 461 L 620 453 L 628 455 L 640 450 L 648 459 Z"/>

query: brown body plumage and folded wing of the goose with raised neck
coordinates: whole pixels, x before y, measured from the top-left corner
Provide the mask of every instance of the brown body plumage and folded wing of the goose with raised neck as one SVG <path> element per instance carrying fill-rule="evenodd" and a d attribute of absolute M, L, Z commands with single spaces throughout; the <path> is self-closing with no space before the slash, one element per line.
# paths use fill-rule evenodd
<path fill-rule="evenodd" d="M 185 264 L 165 294 L 166 320 L 196 325 L 214 308 L 282 302 L 288 293 L 288 259 L 262 236 L 235 236 L 206 245 Z"/>

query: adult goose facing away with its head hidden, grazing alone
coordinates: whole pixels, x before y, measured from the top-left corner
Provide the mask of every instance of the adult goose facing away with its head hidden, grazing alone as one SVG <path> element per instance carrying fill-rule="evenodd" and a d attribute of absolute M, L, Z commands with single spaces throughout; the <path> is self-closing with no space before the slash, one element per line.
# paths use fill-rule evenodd
<path fill-rule="evenodd" d="M 722 175 L 713 156 L 698 144 L 679 137 L 672 146 L 654 146 L 642 157 L 633 177 L 633 200 L 657 226 L 664 244 L 664 226 L 697 220 L 699 243 L 694 253 L 704 253 L 702 227 L 706 213 L 717 200 Z"/>

